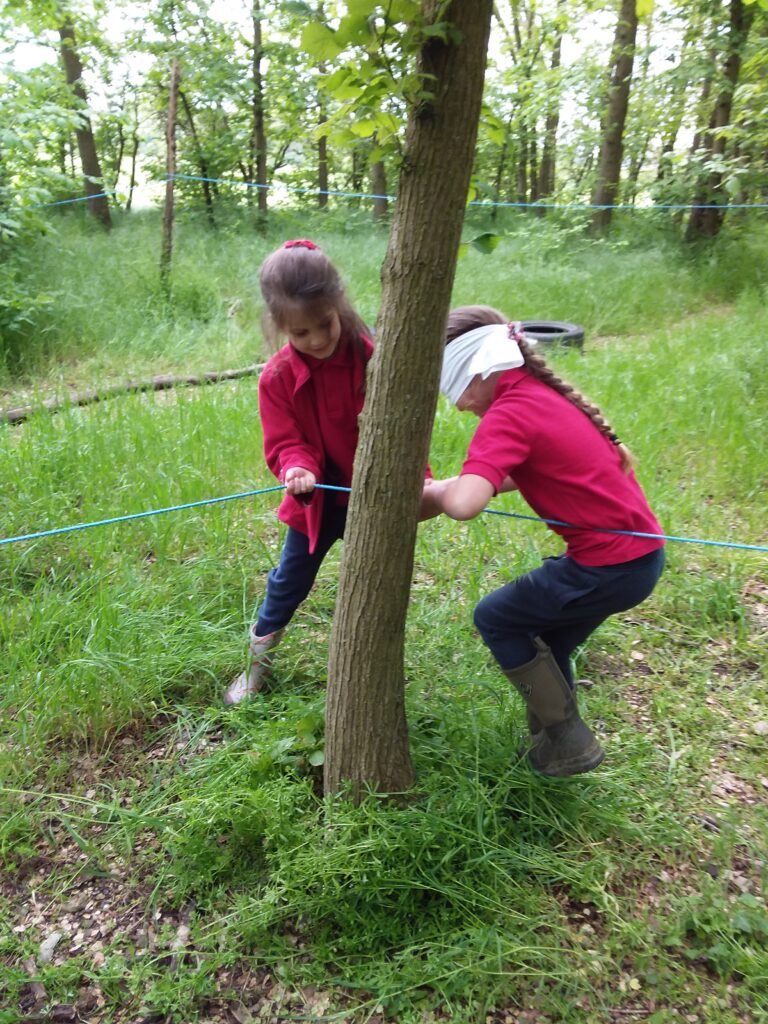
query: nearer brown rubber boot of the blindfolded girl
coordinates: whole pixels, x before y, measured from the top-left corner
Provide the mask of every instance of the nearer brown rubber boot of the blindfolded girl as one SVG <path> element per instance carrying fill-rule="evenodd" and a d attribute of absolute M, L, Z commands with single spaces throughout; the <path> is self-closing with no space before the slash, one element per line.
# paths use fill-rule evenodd
<path fill-rule="evenodd" d="M 560 671 L 555 657 L 540 638 L 535 658 L 505 672 L 525 701 L 532 746 L 530 766 L 542 775 L 564 777 L 592 771 L 604 752 L 592 730 L 582 721 L 575 694 Z M 541 726 L 536 732 L 535 727 Z"/>

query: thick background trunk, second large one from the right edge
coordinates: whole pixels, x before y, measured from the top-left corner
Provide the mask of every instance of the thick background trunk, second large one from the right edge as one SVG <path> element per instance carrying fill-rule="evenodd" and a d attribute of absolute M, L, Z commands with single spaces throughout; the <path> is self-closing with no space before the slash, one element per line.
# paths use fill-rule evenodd
<path fill-rule="evenodd" d="M 613 212 L 611 206 L 618 196 L 618 179 L 622 175 L 622 156 L 624 153 L 624 126 L 630 103 L 637 24 L 637 0 L 622 0 L 613 37 L 608 104 L 597 164 L 597 181 L 592 199 L 596 206 L 602 206 L 603 209 L 595 210 L 592 215 L 593 234 L 601 234 L 607 229 Z"/>

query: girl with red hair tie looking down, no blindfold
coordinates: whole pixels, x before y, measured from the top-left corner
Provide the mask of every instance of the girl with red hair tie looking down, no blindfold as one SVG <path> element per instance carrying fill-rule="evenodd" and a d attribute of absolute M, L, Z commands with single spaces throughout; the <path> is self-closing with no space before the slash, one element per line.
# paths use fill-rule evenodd
<path fill-rule="evenodd" d="M 286 242 L 264 260 L 260 284 L 270 326 L 288 337 L 259 380 L 264 455 L 286 485 L 278 515 L 288 535 L 251 627 L 248 668 L 227 689 L 226 703 L 261 688 L 269 652 L 344 534 L 348 495 L 315 484 L 351 484 L 373 352 L 338 270 L 313 242 Z"/>

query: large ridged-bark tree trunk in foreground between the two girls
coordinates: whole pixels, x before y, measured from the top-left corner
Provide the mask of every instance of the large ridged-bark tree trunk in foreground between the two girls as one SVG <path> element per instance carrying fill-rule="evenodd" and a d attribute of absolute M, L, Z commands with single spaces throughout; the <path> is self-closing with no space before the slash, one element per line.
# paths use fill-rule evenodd
<path fill-rule="evenodd" d="M 422 0 L 461 42 L 430 38 L 418 69 L 433 98 L 412 110 L 381 315 L 354 463 L 328 672 L 325 786 L 413 784 L 403 633 L 437 401 L 443 326 L 480 114 L 492 0 Z M 445 168 L 451 168 L 451 174 Z"/>

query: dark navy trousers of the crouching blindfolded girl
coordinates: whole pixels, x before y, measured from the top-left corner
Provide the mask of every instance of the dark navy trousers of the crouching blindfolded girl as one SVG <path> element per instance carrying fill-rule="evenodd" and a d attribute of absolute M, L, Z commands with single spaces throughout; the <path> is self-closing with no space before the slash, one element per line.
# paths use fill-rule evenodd
<path fill-rule="evenodd" d="M 547 558 L 483 597 L 475 626 L 504 671 L 530 662 L 537 654 L 532 637 L 541 637 L 572 684 L 571 652 L 608 615 L 644 601 L 663 568 L 664 548 L 618 565 L 580 565 L 567 555 Z"/>

